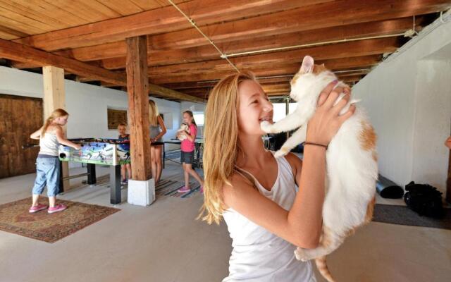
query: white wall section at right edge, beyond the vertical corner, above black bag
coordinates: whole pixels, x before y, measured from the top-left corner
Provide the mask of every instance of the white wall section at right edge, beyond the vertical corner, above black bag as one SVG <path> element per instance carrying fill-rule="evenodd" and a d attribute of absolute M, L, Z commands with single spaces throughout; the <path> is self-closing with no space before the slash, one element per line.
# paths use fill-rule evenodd
<path fill-rule="evenodd" d="M 446 53 L 447 58 L 440 58 Z M 451 133 L 451 44 L 419 61 L 412 180 L 445 191 Z"/>

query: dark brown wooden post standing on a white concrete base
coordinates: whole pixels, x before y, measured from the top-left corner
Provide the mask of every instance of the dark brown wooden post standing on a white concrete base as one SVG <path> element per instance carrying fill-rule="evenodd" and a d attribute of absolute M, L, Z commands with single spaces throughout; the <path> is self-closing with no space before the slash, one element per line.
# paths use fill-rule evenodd
<path fill-rule="evenodd" d="M 152 177 L 152 170 L 150 167 L 147 37 L 132 37 L 126 39 L 126 42 L 132 180 L 149 180 Z"/>

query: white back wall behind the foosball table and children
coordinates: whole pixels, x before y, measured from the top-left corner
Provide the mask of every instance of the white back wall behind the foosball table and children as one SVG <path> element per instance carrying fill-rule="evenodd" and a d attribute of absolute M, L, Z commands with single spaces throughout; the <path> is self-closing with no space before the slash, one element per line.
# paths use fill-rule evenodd
<path fill-rule="evenodd" d="M 108 137 L 116 138 L 117 130 L 108 129 L 107 109 L 128 109 L 127 93 L 86 83 L 65 80 L 66 110 L 70 114 L 68 122 L 68 138 Z M 42 98 L 44 85 L 42 75 L 20 71 L 15 68 L 0 66 L 0 94 L 13 94 L 26 97 Z M 203 104 L 178 102 L 151 97 L 156 102 L 161 114 L 166 116 L 168 133 L 163 140 L 171 140 L 180 127 L 183 109 L 203 111 Z M 171 125 L 170 122 L 172 116 Z M 169 129 L 171 128 L 172 129 Z M 166 149 L 177 149 L 180 146 L 166 145 Z"/>

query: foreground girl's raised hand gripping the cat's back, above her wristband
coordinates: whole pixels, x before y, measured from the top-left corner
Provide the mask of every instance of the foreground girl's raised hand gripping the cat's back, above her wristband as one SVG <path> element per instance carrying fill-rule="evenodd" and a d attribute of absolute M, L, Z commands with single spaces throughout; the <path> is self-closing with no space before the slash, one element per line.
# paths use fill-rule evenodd
<path fill-rule="evenodd" d="M 340 126 L 354 114 L 355 106 L 351 105 L 345 114 L 339 116 L 340 111 L 349 101 L 351 94 L 350 89 L 347 87 L 337 87 L 334 90 L 333 87 L 336 84 L 336 81 L 330 82 L 319 95 L 318 108 L 307 125 L 306 142 L 327 146 L 338 132 L 338 129 L 340 129 Z M 334 106 L 335 100 L 342 92 L 345 92 L 345 97 Z"/>

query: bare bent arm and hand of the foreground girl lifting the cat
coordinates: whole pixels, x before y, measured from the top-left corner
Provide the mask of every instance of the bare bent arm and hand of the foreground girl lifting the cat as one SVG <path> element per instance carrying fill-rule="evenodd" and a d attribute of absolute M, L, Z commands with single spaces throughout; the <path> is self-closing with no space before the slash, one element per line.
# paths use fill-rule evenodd
<path fill-rule="evenodd" d="M 329 93 L 326 87 L 325 93 Z M 354 113 L 354 106 L 342 116 L 341 109 L 347 103 L 349 95 L 333 106 L 338 92 L 330 92 L 326 102 L 324 95 L 319 99 L 319 108 L 307 126 L 307 141 L 328 145 L 340 125 Z M 326 94 L 327 97 L 327 94 Z M 293 160 L 293 174 L 299 185 L 299 192 L 289 211 L 276 202 L 261 195 L 251 184 L 235 173 L 232 185 L 223 185 L 223 202 L 235 209 L 247 219 L 266 228 L 280 238 L 303 248 L 318 246 L 322 228 L 322 208 L 324 202 L 324 184 L 326 179 L 326 148 L 307 145 L 304 148 L 304 161 Z"/>

